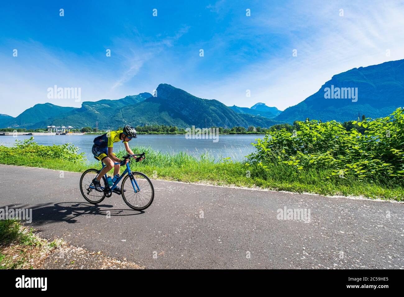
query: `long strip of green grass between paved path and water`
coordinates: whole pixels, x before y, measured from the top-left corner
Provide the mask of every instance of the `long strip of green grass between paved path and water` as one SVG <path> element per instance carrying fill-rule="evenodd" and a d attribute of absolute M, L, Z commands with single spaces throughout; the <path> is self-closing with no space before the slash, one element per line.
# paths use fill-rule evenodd
<path fill-rule="evenodd" d="M 204 182 L 214 185 L 236 185 L 239 187 L 261 187 L 270 190 L 309 192 L 322 195 L 365 196 L 403 201 L 404 187 L 387 181 L 360 181 L 336 176 L 328 179 L 330 170 L 308 170 L 296 172 L 287 164 L 272 164 L 269 171 L 259 166 L 231 160 L 216 160 L 204 154 L 200 159 L 180 152 L 160 153 L 149 147 L 133 147 L 135 153 L 146 152 L 143 162 L 131 162 L 133 171 L 141 171 L 151 178 L 184 182 Z M 116 153 L 118 157 L 125 151 Z M 67 160 L 45 159 L 38 156 L 6 154 L 0 148 L 0 163 L 18 166 L 42 167 L 48 169 L 83 172 L 88 168 L 101 168 L 100 162 L 86 164 Z M 123 169 L 122 169 L 123 171 Z M 248 174 L 249 171 L 249 174 Z M 112 174 L 112 173 L 111 173 Z M 248 177 L 249 176 L 249 177 Z"/>

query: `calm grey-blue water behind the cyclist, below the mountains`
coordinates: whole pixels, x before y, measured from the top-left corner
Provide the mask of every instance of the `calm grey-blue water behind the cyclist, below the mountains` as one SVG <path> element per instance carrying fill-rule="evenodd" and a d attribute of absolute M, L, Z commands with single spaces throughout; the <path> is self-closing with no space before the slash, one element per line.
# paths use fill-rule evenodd
<path fill-rule="evenodd" d="M 219 141 L 213 142 L 212 139 L 186 139 L 185 135 L 139 135 L 138 138 L 130 141 L 129 145 L 149 146 L 161 152 L 181 152 L 185 151 L 192 156 L 199 157 L 204 152 L 209 152 L 215 158 L 231 157 L 232 160 L 242 160 L 244 156 L 254 151 L 251 145 L 256 138 L 264 135 L 219 135 Z M 17 138 L 10 136 L 0 136 L 0 145 L 13 146 L 16 139 L 27 139 L 28 135 L 19 135 Z M 70 142 L 80 148 L 79 152 L 84 152 L 87 160 L 91 162 L 94 159 L 91 154 L 93 140 L 97 135 L 49 135 L 34 136 L 35 141 L 42 145 L 63 144 Z M 122 142 L 114 144 L 114 150 L 124 149 Z M 134 152 L 141 153 L 141 152 Z"/>

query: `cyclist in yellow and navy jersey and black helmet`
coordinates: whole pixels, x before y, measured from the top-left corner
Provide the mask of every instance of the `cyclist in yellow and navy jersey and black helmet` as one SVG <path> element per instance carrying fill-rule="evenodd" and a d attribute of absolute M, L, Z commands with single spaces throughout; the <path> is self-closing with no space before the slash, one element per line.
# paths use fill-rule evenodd
<path fill-rule="evenodd" d="M 101 178 L 103 175 L 105 175 L 108 171 L 114 167 L 114 176 L 119 174 L 119 169 L 120 165 L 124 165 L 128 163 L 129 160 L 126 160 L 126 162 L 123 163 L 122 160 L 118 159 L 115 154 L 114 154 L 114 143 L 121 141 L 125 145 L 126 152 L 129 154 L 133 155 L 132 150 L 130 150 L 128 141 L 130 141 L 132 138 L 137 138 L 136 136 L 136 130 L 135 128 L 126 125 L 122 131 L 111 131 L 108 133 L 105 133 L 101 136 L 95 137 L 94 139 L 94 145 L 92 148 L 92 152 L 94 155 L 94 158 L 97 160 L 100 160 L 101 162 L 104 162 L 106 165 L 101 172 L 97 175 L 95 179 L 93 179 L 93 185 L 95 187 L 95 190 L 98 192 L 102 192 L 103 189 L 101 188 Z M 143 160 L 143 158 L 141 159 Z M 140 160 L 140 161 L 141 161 Z M 121 188 L 120 187 L 115 187 L 113 190 L 114 193 L 116 194 L 121 194 Z"/>

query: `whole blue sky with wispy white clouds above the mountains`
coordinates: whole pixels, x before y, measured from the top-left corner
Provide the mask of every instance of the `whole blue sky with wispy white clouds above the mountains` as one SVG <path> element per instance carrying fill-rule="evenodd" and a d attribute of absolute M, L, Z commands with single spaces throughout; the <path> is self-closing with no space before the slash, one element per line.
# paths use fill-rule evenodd
<path fill-rule="evenodd" d="M 82 101 L 168 83 L 226 105 L 284 110 L 334 74 L 404 58 L 404 2 L 369 3 L 3 1 L 0 114 L 17 116 L 45 102 L 81 106 L 48 99 L 55 84 L 80 87 Z"/>

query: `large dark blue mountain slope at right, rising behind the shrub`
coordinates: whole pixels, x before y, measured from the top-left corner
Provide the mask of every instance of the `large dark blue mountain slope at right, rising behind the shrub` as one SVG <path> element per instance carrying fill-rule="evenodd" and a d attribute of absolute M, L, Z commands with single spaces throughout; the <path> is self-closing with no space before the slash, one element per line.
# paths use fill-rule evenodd
<path fill-rule="evenodd" d="M 339 91 L 340 95 L 328 96 L 331 98 L 326 99 L 327 88 L 330 91 L 334 90 L 334 95 Z M 354 91 L 357 97 L 335 98 L 348 91 L 343 88 Z M 404 59 L 353 68 L 334 75 L 316 93 L 299 104 L 286 108 L 274 120 L 292 123 L 295 120 L 309 118 L 323 122 L 329 120 L 344 122 L 358 119 L 358 114 L 360 117 L 364 114 L 366 118 L 379 118 L 391 114 L 403 105 Z"/>

